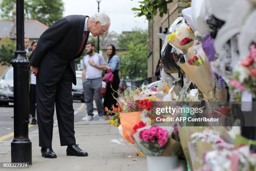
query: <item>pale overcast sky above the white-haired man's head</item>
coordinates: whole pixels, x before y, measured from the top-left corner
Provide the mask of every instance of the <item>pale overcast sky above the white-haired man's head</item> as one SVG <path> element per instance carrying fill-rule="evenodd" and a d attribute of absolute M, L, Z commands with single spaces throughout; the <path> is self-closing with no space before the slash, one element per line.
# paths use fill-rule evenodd
<path fill-rule="evenodd" d="M 111 25 L 109 33 L 115 31 L 131 31 L 134 28 L 148 29 L 148 21 L 145 16 L 136 17 L 135 11 L 131 8 L 138 8 L 141 0 L 101 0 L 100 13 L 106 13 L 110 17 Z M 89 15 L 92 16 L 98 12 L 98 3 L 96 0 L 63 0 L 64 16 L 67 15 Z"/>

